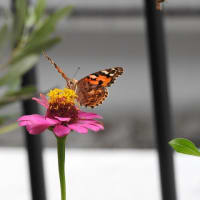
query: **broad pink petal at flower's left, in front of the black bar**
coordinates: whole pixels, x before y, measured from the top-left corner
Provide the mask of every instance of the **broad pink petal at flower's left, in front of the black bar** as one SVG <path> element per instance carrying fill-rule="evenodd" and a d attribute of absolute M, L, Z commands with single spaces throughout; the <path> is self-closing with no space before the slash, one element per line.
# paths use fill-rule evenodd
<path fill-rule="evenodd" d="M 33 135 L 40 134 L 48 127 L 59 123 L 58 120 L 50 119 L 38 114 L 24 115 L 17 121 L 19 122 L 19 126 L 26 126 L 27 131 Z"/>

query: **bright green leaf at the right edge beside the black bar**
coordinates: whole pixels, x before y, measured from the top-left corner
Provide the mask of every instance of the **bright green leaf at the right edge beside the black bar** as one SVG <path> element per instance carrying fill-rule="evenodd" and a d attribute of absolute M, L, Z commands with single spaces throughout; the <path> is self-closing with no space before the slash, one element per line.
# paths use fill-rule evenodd
<path fill-rule="evenodd" d="M 200 151 L 198 148 L 188 139 L 185 138 L 176 138 L 169 142 L 172 148 L 183 154 L 200 156 Z"/>

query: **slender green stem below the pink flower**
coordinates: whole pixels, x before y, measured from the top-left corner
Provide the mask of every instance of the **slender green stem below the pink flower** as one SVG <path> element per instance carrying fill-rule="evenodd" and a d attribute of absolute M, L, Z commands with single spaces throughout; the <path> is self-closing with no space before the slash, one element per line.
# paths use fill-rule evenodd
<path fill-rule="evenodd" d="M 61 200 L 66 200 L 66 183 L 65 183 L 65 144 L 66 138 L 57 137 L 57 153 L 58 153 L 58 168 L 59 168 L 59 177 L 60 177 L 60 191 L 61 191 Z"/>

